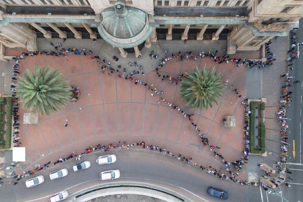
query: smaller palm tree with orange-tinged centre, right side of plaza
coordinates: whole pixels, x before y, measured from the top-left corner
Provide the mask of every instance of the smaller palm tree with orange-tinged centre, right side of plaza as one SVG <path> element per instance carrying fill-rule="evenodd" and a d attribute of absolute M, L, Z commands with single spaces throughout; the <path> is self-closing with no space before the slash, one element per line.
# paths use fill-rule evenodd
<path fill-rule="evenodd" d="M 226 87 L 221 83 L 221 73 L 215 75 L 215 68 L 209 72 L 209 68 L 204 66 L 201 71 L 198 67 L 194 69 L 195 73 L 186 73 L 187 76 L 181 82 L 180 95 L 182 100 L 187 101 L 186 105 L 192 105 L 193 108 L 208 109 L 208 105 L 212 108 L 212 103 L 216 99 L 220 99 L 223 89 Z"/>

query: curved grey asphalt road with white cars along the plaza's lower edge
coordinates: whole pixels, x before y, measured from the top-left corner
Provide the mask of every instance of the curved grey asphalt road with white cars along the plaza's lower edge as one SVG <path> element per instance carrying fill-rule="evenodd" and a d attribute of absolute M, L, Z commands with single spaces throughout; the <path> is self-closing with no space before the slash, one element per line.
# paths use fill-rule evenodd
<path fill-rule="evenodd" d="M 108 153 L 107 153 L 108 154 Z M 192 201 L 221 201 L 207 194 L 209 186 L 229 191 L 228 201 L 246 201 L 246 189 L 252 186 L 241 186 L 231 181 L 219 180 L 201 169 L 178 161 L 168 155 L 152 151 L 118 150 L 111 154 L 117 156 L 117 161 L 110 165 L 98 165 L 96 159 L 102 153 L 83 156 L 81 161 L 89 160 L 91 167 L 87 170 L 74 172 L 72 165 L 78 163 L 72 160 L 60 164 L 58 167 L 39 174 L 44 176 L 44 183 L 27 188 L 25 179 L 20 184 L 1 187 L 2 201 L 49 201 L 49 196 L 61 190 L 68 190 L 70 196 L 87 191 L 89 187 L 102 187 L 106 184 L 143 183 L 157 187 L 164 187 L 173 193 L 188 197 Z M 61 179 L 50 180 L 48 174 L 66 167 L 68 175 Z M 100 180 L 100 172 L 119 169 L 121 177 L 115 180 Z M 37 174 L 35 176 L 38 176 Z M 13 193 L 13 194 L 12 194 Z"/>

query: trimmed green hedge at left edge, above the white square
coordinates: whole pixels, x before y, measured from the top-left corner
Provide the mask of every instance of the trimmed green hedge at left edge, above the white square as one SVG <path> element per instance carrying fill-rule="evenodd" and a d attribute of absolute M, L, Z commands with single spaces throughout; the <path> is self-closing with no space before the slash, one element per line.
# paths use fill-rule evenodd
<path fill-rule="evenodd" d="M 4 99 L 4 98 L 3 98 Z M 11 148 L 11 138 L 12 138 L 12 97 L 6 97 L 5 100 L 7 104 L 5 105 L 5 145 L 0 145 L 0 149 L 9 149 Z M 2 100 L 2 99 L 1 99 Z"/>

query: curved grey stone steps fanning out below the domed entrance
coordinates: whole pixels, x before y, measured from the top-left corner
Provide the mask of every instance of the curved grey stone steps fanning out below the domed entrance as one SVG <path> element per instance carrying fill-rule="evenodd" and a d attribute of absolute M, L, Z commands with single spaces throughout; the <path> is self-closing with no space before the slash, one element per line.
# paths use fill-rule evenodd
<path fill-rule="evenodd" d="M 158 56 L 158 60 L 155 58 L 150 58 L 151 51 L 156 50 L 156 55 Z M 120 55 L 120 51 L 118 48 L 113 48 L 111 45 L 105 43 L 99 50 L 98 56 L 100 57 L 100 61 L 106 60 L 110 62 L 110 66 L 115 69 L 118 69 L 118 66 L 121 65 L 121 70 L 118 69 L 119 72 L 122 72 L 124 75 L 130 75 L 133 71 L 139 71 L 140 75 L 142 72 L 147 74 L 148 72 L 153 71 L 161 62 L 161 59 L 165 56 L 164 49 L 158 45 L 157 42 L 151 42 L 151 47 L 146 48 L 144 47 L 141 50 L 141 57 L 142 59 L 138 59 L 135 57 L 135 53 L 128 53 L 126 58 L 123 58 Z M 116 62 L 113 59 L 113 56 L 116 56 L 119 60 Z M 135 67 L 134 62 L 140 66 L 142 65 L 143 70 L 139 70 L 139 67 Z M 128 63 L 131 62 L 132 66 L 129 66 Z M 123 73 L 123 69 L 126 69 L 126 73 Z M 118 73 L 116 71 L 116 73 Z"/>

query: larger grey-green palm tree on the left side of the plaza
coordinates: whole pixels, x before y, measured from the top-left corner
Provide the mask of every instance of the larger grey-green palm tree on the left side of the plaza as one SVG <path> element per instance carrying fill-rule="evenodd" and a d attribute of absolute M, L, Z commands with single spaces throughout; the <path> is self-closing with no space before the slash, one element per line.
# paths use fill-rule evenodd
<path fill-rule="evenodd" d="M 17 96 L 21 96 L 20 101 L 24 102 L 22 108 L 27 107 L 30 111 L 40 111 L 43 116 L 44 112 L 50 115 L 56 113 L 68 103 L 71 95 L 69 81 L 65 76 L 56 69 L 49 67 L 35 67 L 35 74 L 29 69 L 24 72 L 24 78 L 19 77 L 17 86 Z"/>

